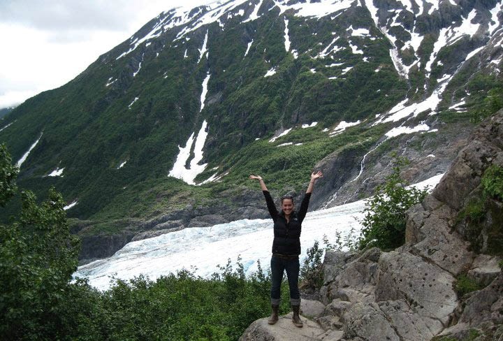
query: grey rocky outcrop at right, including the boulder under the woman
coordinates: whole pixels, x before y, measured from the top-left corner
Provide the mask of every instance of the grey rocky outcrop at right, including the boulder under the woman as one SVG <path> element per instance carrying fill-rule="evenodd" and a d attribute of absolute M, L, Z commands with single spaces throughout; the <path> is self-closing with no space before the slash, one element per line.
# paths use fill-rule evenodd
<path fill-rule="evenodd" d="M 302 303 L 307 328 L 262 319 L 240 340 L 503 340 L 503 203 L 481 189 L 494 165 L 503 166 L 502 110 L 409 210 L 404 246 L 327 252 L 317 300 Z M 476 219 L 467 213 L 475 200 Z"/>

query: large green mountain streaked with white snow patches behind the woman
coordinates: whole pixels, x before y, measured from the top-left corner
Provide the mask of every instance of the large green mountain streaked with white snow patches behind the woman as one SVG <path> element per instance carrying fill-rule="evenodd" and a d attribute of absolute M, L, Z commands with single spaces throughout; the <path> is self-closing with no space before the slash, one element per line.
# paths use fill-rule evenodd
<path fill-rule="evenodd" d="M 64 195 L 84 258 L 144 231 L 261 217 L 249 173 L 300 196 L 316 167 L 325 177 L 312 208 L 355 201 L 389 173 L 393 152 L 411 160 L 410 182 L 445 172 L 471 119 L 501 94 L 502 9 L 233 0 L 168 10 L 15 108 L 0 140 L 20 187 Z"/>

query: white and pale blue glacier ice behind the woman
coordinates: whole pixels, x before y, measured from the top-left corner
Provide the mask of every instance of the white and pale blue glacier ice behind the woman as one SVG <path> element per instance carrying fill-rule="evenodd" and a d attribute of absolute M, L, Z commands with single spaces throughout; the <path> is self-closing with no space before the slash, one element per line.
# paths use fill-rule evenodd
<path fill-rule="evenodd" d="M 431 177 L 414 187 L 428 188 L 439 182 L 442 174 Z M 316 190 L 314 191 L 316 195 Z M 265 201 L 264 201 L 265 207 Z M 302 223 L 300 260 L 306 257 L 307 249 L 326 236 L 334 243 L 336 233 L 342 240 L 359 235 L 365 200 L 323 210 L 308 212 Z M 219 266 L 228 261 L 235 263 L 240 258 L 245 273 L 270 268 L 272 247 L 271 219 L 240 219 L 227 224 L 207 227 L 184 228 L 154 238 L 129 242 L 108 259 L 100 259 L 80 266 L 74 277 L 85 277 L 89 284 L 99 290 L 107 290 L 114 279 L 130 280 L 144 275 L 156 280 L 177 270 L 190 270 L 194 275 L 210 278 L 219 272 Z"/>

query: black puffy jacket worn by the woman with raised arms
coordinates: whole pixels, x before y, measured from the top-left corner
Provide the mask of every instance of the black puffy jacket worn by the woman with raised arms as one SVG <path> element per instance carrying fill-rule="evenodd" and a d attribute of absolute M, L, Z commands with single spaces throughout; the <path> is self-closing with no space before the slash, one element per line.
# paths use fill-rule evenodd
<path fill-rule="evenodd" d="M 263 191 L 265 202 L 267 203 L 269 214 L 274 222 L 275 238 L 272 241 L 272 253 L 284 255 L 300 254 L 300 232 L 302 231 L 302 221 L 309 207 L 310 193 L 306 193 L 302 198 L 300 210 L 291 212 L 290 221 L 286 222 L 283 210 L 278 212 L 269 191 Z"/>

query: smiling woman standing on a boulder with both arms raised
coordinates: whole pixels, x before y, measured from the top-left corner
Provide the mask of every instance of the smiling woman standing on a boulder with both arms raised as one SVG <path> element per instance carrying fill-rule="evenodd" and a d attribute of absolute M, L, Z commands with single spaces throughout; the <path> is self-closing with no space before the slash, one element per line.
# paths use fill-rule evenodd
<path fill-rule="evenodd" d="M 271 257 L 272 314 L 268 321 L 269 324 L 275 324 L 278 321 L 279 300 L 281 297 L 280 289 L 283 273 L 286 271 L 290 288 L 290 304 L 293 310 L 292 321 L 296 326 L 302 327 L 302 321 L 299 317 L 300 293 L 298 290 L 300 231 L 302 229 L 302 220 L 304 220 L 307 208 L 309 207 L 309 198 L 311 198 L 314 182 L 320 177 L 323 177 L 323 173 L 321 172 L 313 172 L 311 174 L 311 181 L 309 182 L 304 198 L 302 198 L 302 203 L 300 204 L 300 210 L 298 210 L 298 212 L 295 210 L 292 196 L 282 197 L 282 210 L 278 212 L 267 187 L 265 187 L 262 177 L 259 175 L 249 176 L 250 179 L 260 182 L 269 214 L 274 222 L 274 240 L 272 241 Z"/>

